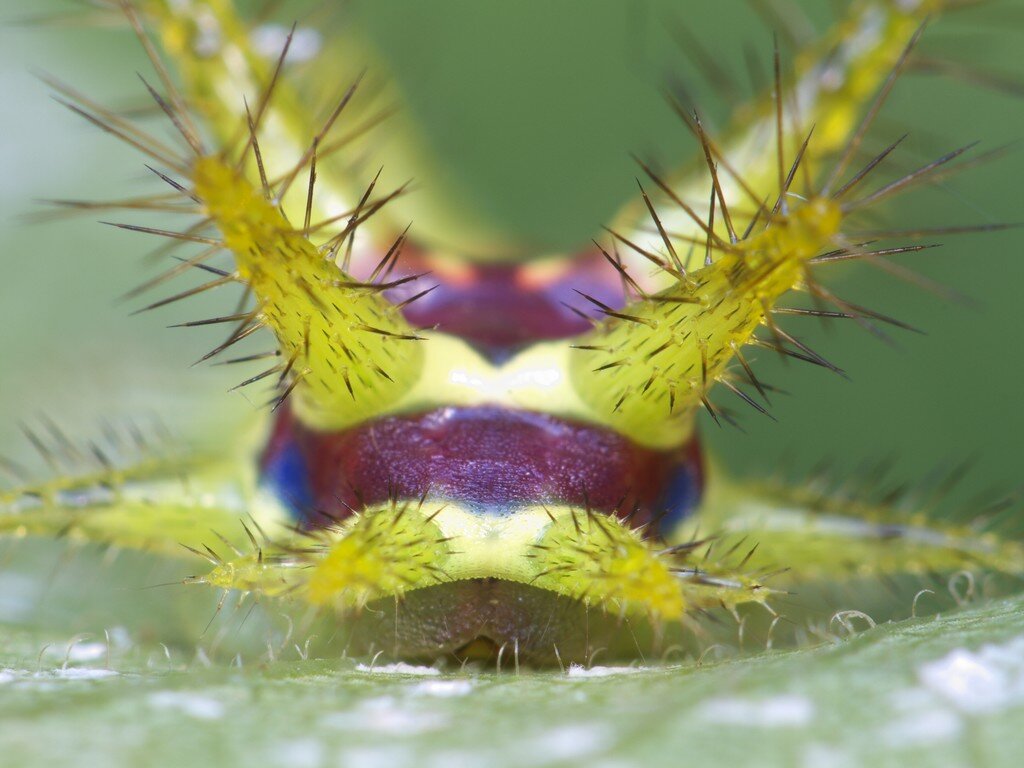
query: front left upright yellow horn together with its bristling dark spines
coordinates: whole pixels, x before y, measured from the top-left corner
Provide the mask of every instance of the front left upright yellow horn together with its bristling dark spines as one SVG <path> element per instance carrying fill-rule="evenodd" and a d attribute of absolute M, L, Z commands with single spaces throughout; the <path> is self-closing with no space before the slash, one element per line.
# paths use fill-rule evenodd
<path fill-rule="evenodd" d="M 331 131 L 351 101 L 356 86 L 353 84 L 345 91 L 294 164 L 282 170 L 279 163 L 276 170 L 271 170 L 268 155 L 261 148 L 260 131 L 271 122 L 275 91 L 284 87 L 282 71 L 292 40 L 289 36 L 254 108 L 241 106 L 245 117 L 241 124 L 236 122 L 239 130 L 234 142 L 223 151 L 209 152 L 185 99 L 161 62 L 135 10 L 128 3 L 122 3 L 122 7 L 150 53 L 167 95 L 148 83 L 145 87 L 187 150 L 179 153 L 81 94 L 58 83 L 54 85 L 68 98 L 66 103 L 73 111 L 162 166 L 163 170 L 151 170 L 172 188 L 163 196 L 116 202 L 111 207 L 158 211 L 173 208 L 201 217 L 181 231 L 118 224 L 169 238 L 175 244 L 203 248 L 198 255 L 181 259 L 139 290 L 153 288 L 190 268 L 214 275 L 208 283 L 146 308 L 241 284 L 247 297 L 255 297 L 254 306 L 247 308 L 240 304 L 229 314 L 180 324 L 233 326 L 226 341 L 202 359 L 218 355 L 260 329 L 269 328 L 278 338 L 279 348 L 267 354 L 245 355 L 237 361 L 272 358 L 270 368 L 250 377 L 243 385 L 274 377 L 279 389 L 272 401 L 274 408 L 297 392 L 296 408 L 300 415 L 318 428 L 329 429 L 365 420 L 393 406 L 417 380 L 422 367 L 422 351 L 418 344 L 411 343 L 421 341 L 421 337 L 402 318 L 402 305 L 392 304 L 382 296 L 385 291 L 419 276 L 392 278 L 406 234 L 386 250 L 367 280 L 354 279 L 347 269 L 357 229 L 406 187 L 375 198 L 375 179 L 353 207 L 314 220 L 318 169 L 325 158 L 344 143 L 334 140 Z M 225 116 L 219 118 L 216 127 L 223 132 Z M 274 153 L 276 150 L 275 142 Z M 285 201 L 290 199 L 289 193 L 303 171 L 308 183 L 302 195 L 304 207 L 298 213 L 302 217 L 300 225 L 290 220 L 288 211 L 293 216 L 297 211 Z M 312 238 L 325 232 L 325 242 L 314 245 Z M 233 269 L 220 269 L 208 263 L 225 251 L 233 257 Z"/>

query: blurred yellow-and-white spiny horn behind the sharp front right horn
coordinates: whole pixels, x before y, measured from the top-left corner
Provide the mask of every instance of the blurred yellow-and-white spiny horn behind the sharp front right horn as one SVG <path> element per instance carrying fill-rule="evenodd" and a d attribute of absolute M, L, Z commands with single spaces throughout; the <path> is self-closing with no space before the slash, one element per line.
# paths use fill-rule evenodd
<path fill-rule="evenodd" d="M 950 7 L 949 0 L 920 2 L 889 2 L 861 0 L 850 4 L 842 19 L 812 46 L 800 52 L 786 76 L 776 60 L 774 90 L 736 111 L 733 130 L 721 140 L 708 136 L 696 113 L 689 106 L 675 104 L 676 112 L 703 145 L 703 156 L 718 168 L 712 173 L 701 162 L 684 173 L 663 180 L 646 165 L 644 171 L 652 180 L 681 201 L 691 211 L 669 209 L 664 213 L 665 228 L 676 237 L 702 238 L 708 221 L 708 189 L 714 184 L 721 190 L 718 200 L 734 208 L 731 216 L 718 216 L 710 227 L 721 238 L 740 231 L 753 219 L 760 217 L 766 200 L 774 200 L 782 183 L 782 156 L 802 152 L 800 142 L 813 128 L 814 141 L 806 147 L 802 160 L 804 173 L 816 176 L 823 163 L 842 154 L 828 174 L 824 191 L 837 186 L 864 138 L 874 112 L 885 101 L 890 89 L 907 66 L 925 25 Z M 788 70 L 788 68 L 786 68 Z M 880 93 L 881 88 L 881 93 Z M 873 103 L 872 103 L 873 99 Z M 865 106 L 870 105 L 865 120 Z M 781 131 L 779 129 L 782 129 Z M 702 201 L 702 202 L 697 202 Z M 644 206 L 637 201 L 626 207 L 616 229 L 633 231 L 645 216 Z M 644 242 L 643 231 L 634 231 L 633 241 Z M 635 261 L 636 254 L 627 254 Z M 716 254 L 717 255 L 717 254 Z M 701 249 L 681 254 L 687 269 L 703 258 Z M 696 262 L 696 263 L 695 263 Z M 658 287 L 672 278 L 662 274 Z"/>

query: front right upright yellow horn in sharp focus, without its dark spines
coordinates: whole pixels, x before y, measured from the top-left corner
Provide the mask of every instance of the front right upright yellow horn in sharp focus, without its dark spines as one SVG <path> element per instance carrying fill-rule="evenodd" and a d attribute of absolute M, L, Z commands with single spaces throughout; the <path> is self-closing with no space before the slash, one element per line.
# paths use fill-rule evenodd
<path fill-rule="evenodd" d="M 726 366 L 750 343 L 776 300 L 800 283 L 808 260 L 829 248 L 840 207 L 812 199 L 776 215 L 762 233 L 702 269 L 666 265 L 676 284 L 628 306 L 575 345 L 570 375 L 580 396 L 608 422 L 646 442 L 675 428 L 680 440 Z M 737 390 L 738 391 L 738 390 Z M 666 426 L 668 420 L 669 426 Z"/>

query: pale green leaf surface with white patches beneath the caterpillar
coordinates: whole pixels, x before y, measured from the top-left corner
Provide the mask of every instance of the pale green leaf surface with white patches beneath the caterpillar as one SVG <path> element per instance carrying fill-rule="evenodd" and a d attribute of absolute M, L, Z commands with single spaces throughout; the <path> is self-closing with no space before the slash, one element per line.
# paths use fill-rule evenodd
<path fill-rule="evenodd" d="M 66 643 L 0 631 L 3 764 L 948 768 L 1024 754 L 1020 597 L 700 667 L 207 667 Z"/>

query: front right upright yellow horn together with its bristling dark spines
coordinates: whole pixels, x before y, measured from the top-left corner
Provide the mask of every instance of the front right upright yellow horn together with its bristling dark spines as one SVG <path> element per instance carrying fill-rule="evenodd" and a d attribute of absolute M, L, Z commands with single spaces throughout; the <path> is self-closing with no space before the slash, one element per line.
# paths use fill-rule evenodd
<path fill-rule="evenodd" d="M 662 431 L 652 432 L 651 425 L 668 419 L 670 423 L 677 422 L 682 438 L 697 407 L 703 407 L 715 421 L 735 423 L 729 409 L 710 399 L 710 390 L 716 384 L 729 389 L 756 411 L 768 414 L 768 392 L 772 388 L 755 376 L 741 351 L 744 346 L 768 348 L 843 373 L 783 330 L 776 315 L 849 318 L 882 338 L 887 336 L 878 324 L 914 330 L 887 314 L 840 298 L 817 280 L 816 267 L 859 259 L 897 276 L 928 285 L 913 272 L 889 263 L 886 257 L 924 251 L 936 247 L 935 244 L 886 246 L 879 242 L 1002 226 L 855 231 L 848 223 L 874 204 L 920 182 L 939 181 L 989 159 L 982 157 L 950 166 L 974 146 L 969 144 L 856 197 L 864 180 L 884 165 L 900 139 L 878 153 L 848 179 L 844 178 L 882 104 L 910 60 L 924 30 L 924 24 L 914 17 L 923 14 L 923 9 L 913 13 L 892 10 L 893 29 L 880 33 L 881 49 L 859 52 L 863 59 L 857 62 L 860 70 L 847 73 L 848 78 L 861 81 L 858 85 L 861 89 L 866 81 L 880 86 L 860 122 L 844 131 L 847 138 L 843 145 L 837 144 L 834 136 L 819 140 L 820 132 L 812 126 L 797 145 L 793 162 L 786 164 L 785 146 L 791 142 L 787 125 L 794 120 L 791 114 L 794 108 L 788 105 L 777 49 L 773 111 L 776 141 L 772 164 L 762 161 L 737 169 L 730 162 L 729 153 L 723 152 L 709 135 L 699 115 L 680 108 L 702 150 L 710 187 L 707 214 L 697 213 L 700 206 L 689 204 L 678 186 L 641 162 L 644 172 L 672 205 L 672 217 L 677 223 L 669 223 L 641 184 L 644 210 L 652 222 L 649 232 L 626 236 L 609 230 L 615 249 L 610 253 L 601 249 L 618 270 L 634 301 L 625 309 L 614 309 L 584 296 L 597 307 L 604 321 L 573 345 L 580 350 L 572 361 L 578 392 L 595 410 L 607 414 L 617 429 L 644 440 Z M 911 22 L 915 28 L 909 26 Z M 911 30 L 909 40 L 904 39 L 895 47 L 893 36 L 906 29 Z M 880 61 L 889 61 L 889 70 L 879 71 Z M 864 101 L 866 95 L 862 94 L 859 100 Z M 827 98 L 825 101 L 830 103 Z M 835 133 L 835 129 L 830 132 Z M 830 155 L 838 155 L 838 159 L 827 173 L 812 170 Z M 770 195 L 762 195 L 767 188 L 762 176 L 767 177 L 772 166 L 775 188 Z M 824 177 L 823 181 L 815 184 L 814 177 L 819 175 Z M 800 184 L 803 186 L 797 194 Z M 749 200 L 753 213 L 742 210 L 735 200 L 737 197 Z M 656 247 L 638 244 L 648 233 L 656 239 Z M 618 246 L 633 254 L 635 260 L 652 264 L 659 273 L 657 285 L 651 288 L 650 281 L 635 279 L 624 264 Z M 694 252 L 702 256 L 696 267 Z M 778 300 L 793 290 L 808 293 L 817 308 L 778 306 Z M 755 335 L 761 327 L 767 328 L 768 338 Z M 732 367 L 733 360 L 738 366 Z M 745 391 L 742 384 L 753 387 L 754 393 Z"/>

